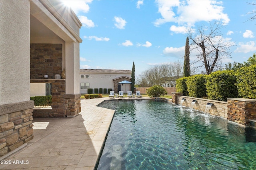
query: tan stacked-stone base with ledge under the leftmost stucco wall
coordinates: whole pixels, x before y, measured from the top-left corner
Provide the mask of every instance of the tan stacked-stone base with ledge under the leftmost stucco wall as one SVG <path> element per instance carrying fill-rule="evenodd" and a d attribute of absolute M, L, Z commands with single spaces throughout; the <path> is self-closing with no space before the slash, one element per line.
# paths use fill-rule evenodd
<path fill-rule="evenodd" d="M 34 101 L 0 106 L 0 157 L 33 139 Z"/>

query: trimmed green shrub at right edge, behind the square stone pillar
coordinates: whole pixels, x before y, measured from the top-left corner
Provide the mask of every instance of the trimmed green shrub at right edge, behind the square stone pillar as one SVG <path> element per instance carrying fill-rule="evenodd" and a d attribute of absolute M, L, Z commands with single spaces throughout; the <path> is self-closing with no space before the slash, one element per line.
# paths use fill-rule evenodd
<path fill-rule="evenodd" d="M 256 99 L 256 65 L 242 67 L 236 72 L 238 95 Z"/>

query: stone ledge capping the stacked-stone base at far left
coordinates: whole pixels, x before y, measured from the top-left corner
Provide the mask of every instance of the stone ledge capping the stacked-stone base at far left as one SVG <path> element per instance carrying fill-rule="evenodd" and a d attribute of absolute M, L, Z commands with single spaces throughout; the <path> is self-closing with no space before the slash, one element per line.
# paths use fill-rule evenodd
<path fill-rule="evenodd" d="M 14 113 L 16 111 L 22 111 L 26 109 L 31 109 L 33 107 L 34 107 L 33 100 L 30 100 L 27 102 L 13 103 L 13 104 L 3 104 L 3 105 L 0 105 L 0 115 Z"/>

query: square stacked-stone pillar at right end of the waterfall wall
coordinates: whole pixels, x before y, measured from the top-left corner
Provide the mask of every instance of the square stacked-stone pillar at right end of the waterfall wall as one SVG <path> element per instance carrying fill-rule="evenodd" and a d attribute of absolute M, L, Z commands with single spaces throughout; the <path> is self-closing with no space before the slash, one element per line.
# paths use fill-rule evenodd
<path fill-rule="evenodd" d="M 256 100 L 228 99 L 228 120 L 248 126 L 250 119 L 256 119 Z"/>

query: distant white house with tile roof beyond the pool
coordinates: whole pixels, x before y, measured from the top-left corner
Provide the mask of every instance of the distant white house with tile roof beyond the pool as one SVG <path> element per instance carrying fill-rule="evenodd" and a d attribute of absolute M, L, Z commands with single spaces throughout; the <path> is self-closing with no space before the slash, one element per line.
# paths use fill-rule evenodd
<path fill-rule="evenodd" d="M 111 69 L 80 69 L 80 94 L 87 94 L 88 88 L 112 89 L 115 93 L 120 90 L 127 92 L 131 89 L 130 84 L 118 84 L 123 80 L 131 81 L 131 70 Z"/>

